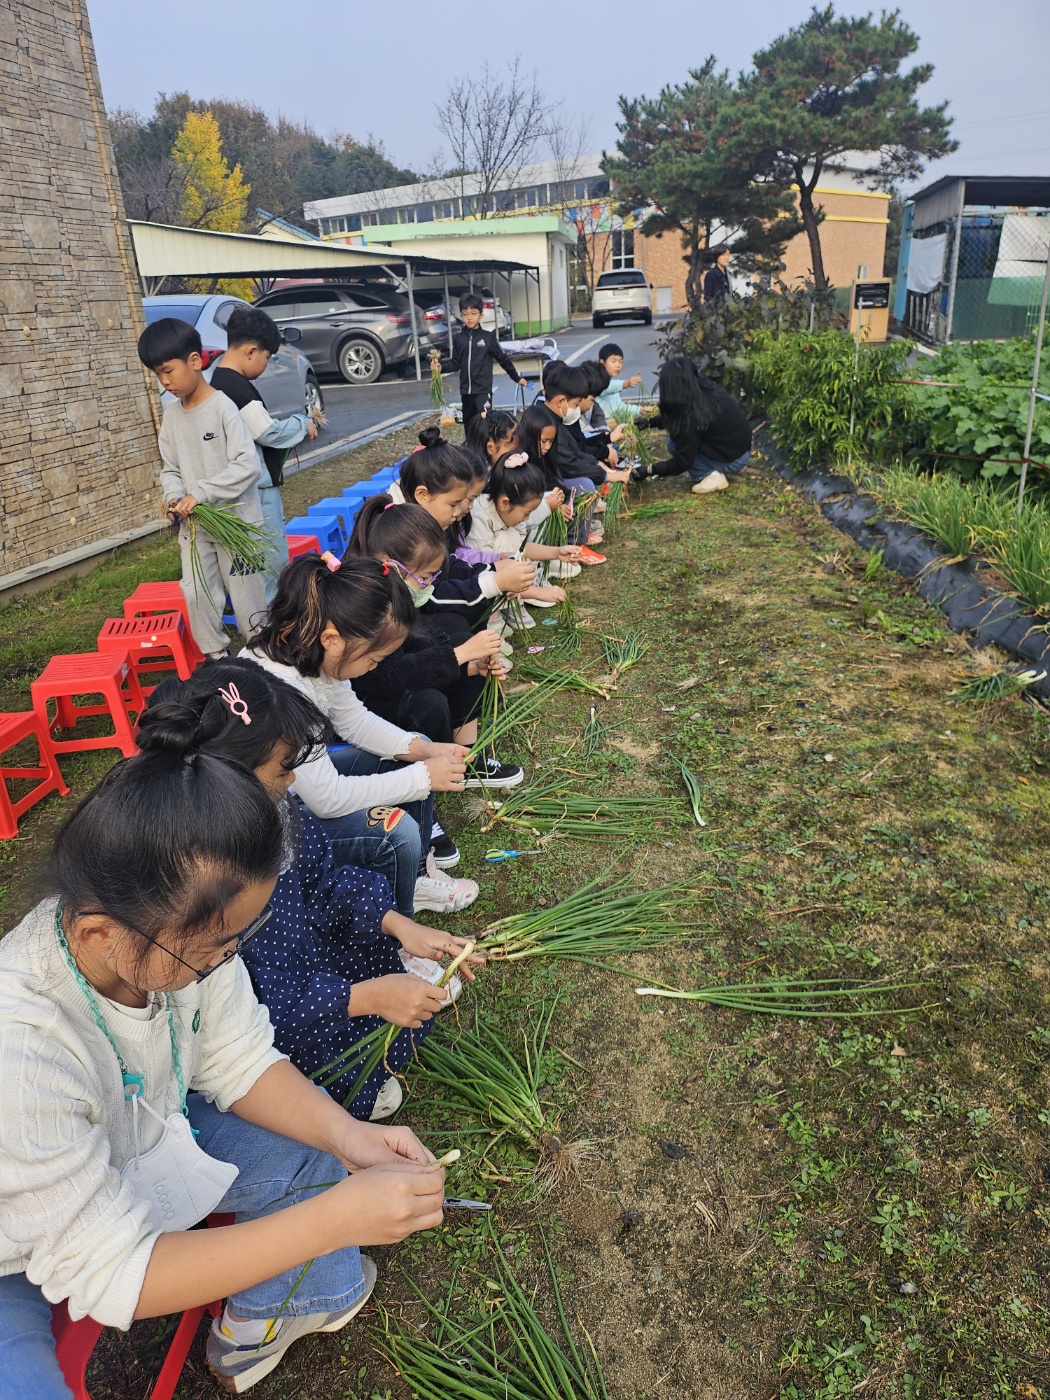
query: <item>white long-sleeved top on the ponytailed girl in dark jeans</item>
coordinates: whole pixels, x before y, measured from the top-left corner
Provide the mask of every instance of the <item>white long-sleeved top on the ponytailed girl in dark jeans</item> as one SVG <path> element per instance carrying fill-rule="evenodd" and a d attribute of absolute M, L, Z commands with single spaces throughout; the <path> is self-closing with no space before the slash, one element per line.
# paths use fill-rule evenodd
<path fill-rule="evenodd" d="M 279 680 L 286 680 L 312 700 L 318 710 L 329 717 L 336 734 L 365 753 L 393 759 L 405 753 L 412 743 L 412 734 L 365 710 L 349 680 L 333 680 L 323 672 L 319 676 L 304 676 L 294 666 L 270 661 L 251 647 L 241 655 L 258 662 L 263 671 L 269 671 Z M 343 777 L 328 753 L 322 753 L 295 769 L 294 791 L 314 816 L 325 820 L 346 816 L 347 812 L 363 812 L 367 806 L 419 802 L 430 792 L 430 769 L 426 763 L 407 763 L 403 769 L 392 769 L 389 773 Z"/>

